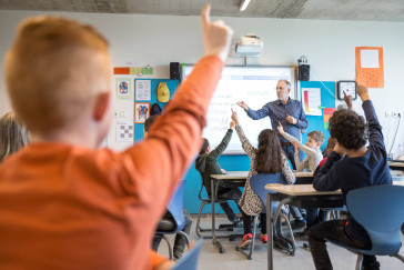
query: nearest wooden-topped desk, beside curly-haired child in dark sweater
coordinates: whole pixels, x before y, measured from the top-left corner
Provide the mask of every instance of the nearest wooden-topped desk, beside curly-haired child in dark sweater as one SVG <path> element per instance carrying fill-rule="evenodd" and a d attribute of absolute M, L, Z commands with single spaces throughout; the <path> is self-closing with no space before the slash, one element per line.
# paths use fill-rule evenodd
<path fill-rule="evenodd" d="M 316 191 L 312 184 L 266 184 L 265 189 L 289 198 L 289 203 L 299 208 L 339 208 L 343 207 L 343 198 L 337 191 Z M 279 207 L 282 207 L 280 203 Z M 267 230 L 267 269 L 273 269 L 273 220 L 272 194 L 266 194 L 266 230 Z"/>

